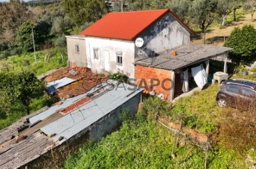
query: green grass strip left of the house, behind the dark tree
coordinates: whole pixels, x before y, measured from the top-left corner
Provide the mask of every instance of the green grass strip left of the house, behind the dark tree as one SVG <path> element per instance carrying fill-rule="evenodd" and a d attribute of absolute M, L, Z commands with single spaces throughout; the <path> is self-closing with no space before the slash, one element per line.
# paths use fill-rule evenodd
<path fill-rule="evenodd" d="M 47 58 L 45 62 L 45 56 L 47 53 L 53 53 L 54 55 L 50 57 L 50 60 Z M 63 60 L 60 53 L 63 54 Z M 38 51 L 36 53 L 36 58 L 37 62 L 33 53 L 11 56 L 7 59 L 0 60 L 0 71 L 6 71 L 3 64 L 8 63 L 11 71 L 30 70 L 35 72 L 36 75 L 41 75 L 48 70 L 66 66 L 68 60 L 68 56 L 65 54 L 64 48 Z"/>

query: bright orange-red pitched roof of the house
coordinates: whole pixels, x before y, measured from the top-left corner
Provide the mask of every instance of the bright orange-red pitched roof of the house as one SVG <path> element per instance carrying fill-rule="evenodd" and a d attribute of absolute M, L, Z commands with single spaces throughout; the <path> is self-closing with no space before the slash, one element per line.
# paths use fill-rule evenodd
<path fill-rule="evenodd" d="M 92 26 L 89 26 L 82 31 L 80 35 L 134 40 L 139 33 L 142 33 L 142 31 L 168 12 L 183 24 L 188 31 L 193 33 L 191 28 L 186 26 L 175 13 L 169 9 L 158 9 L 108 13 L 106 16 L 103 16 L 103 18 L 92 24 Z"/>

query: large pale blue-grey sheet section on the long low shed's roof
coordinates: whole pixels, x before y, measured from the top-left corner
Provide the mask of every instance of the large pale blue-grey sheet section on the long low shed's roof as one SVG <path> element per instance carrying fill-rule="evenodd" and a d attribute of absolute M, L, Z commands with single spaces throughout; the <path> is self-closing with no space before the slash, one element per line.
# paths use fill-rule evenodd
<path fill-rule="evenodd" d="M 79 109 L 75 109 L 70 114 L 44 126 L 41 131 L 48 136 L 53 133 L 56 134 L 53 137 L 55 141 L 58 141 L 60 136 L 65 138 L 59 141 L 59 143 L 63 143 L 63 141 L 86 129 L 143 90 L 142 88 L 138 88 L 135 91 L 131 91 L 128 87 L 133 88 L 129 84 L 119 84 L 119 87 L 105 92 L 105 94 L 84 104 Z"/>

